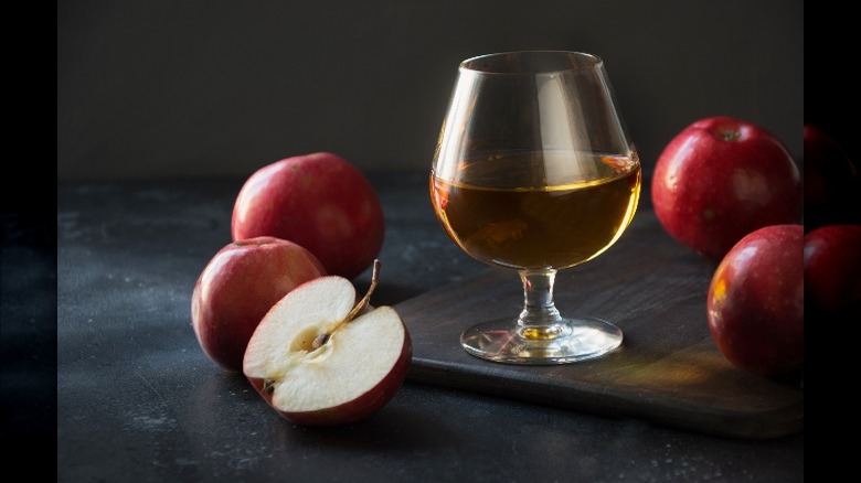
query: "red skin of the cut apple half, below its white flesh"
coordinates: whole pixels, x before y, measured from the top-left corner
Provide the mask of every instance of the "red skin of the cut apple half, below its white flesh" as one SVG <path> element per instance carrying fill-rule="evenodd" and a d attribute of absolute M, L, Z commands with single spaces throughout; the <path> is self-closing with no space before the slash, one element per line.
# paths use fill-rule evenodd
<path fill-rule="evenodd" d="M 385 406 L 404 384 L 406 379 L 406 373 L 410 369 L 410 365 L 413 359 L 413 342 L 410 339 L 410 333 L 405 331 L 404 345 L 401 350 L 401 357 L 398 357 L 392 371 L 372 389 L 357 399 L 349 402 L 344 402 L 340 406 L 336 406 L 328 409 L 320 409 L 316 411 L 293 412 L 283 411 L 275 407 L 273 404 L 272 394 L 267 394 L 263 389 L 264 379 L 247 377 L 252 386 L 263 397 L 266 404 L 269 405 L 275 411 L 283 418 L 301 426 L 340 426 L 351 425 L 353 422 L 361 421 L 370 418 L 378 412 L 383 406 Z"/>

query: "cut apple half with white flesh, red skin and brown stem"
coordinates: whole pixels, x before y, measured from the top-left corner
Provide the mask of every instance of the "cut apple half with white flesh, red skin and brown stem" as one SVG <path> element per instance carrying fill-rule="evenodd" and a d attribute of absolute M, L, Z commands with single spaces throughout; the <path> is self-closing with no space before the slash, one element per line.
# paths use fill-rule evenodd
<path fill-rule="evenodd" d="M 375 414 L 403 385 L 410 333 L 391 307 L 357 303 L 350 280 L 327 276 L 285 296 L 254 332 L 243 372 L 281 417 L 304 426 L 347 425 Z"/>

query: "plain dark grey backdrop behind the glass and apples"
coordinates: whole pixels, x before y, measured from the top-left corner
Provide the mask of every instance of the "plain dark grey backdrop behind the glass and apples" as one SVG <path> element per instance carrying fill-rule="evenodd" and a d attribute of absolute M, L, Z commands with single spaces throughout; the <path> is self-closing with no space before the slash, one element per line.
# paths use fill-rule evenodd
<path fill-rule="evenodd" d="M 57 3 L 57 181 L 428 169 L 458 63 L 530 49 L 605 60 L 646 168 L 714 115 L 801 155 L 802 1 L 87 0 Z"/>

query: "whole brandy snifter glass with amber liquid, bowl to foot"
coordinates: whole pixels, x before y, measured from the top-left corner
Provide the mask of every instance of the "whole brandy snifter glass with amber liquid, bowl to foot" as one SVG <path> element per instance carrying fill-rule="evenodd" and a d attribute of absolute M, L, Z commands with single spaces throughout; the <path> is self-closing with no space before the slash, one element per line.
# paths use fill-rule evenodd
<path fill-rule="evenodd" d="M 555 308 L 559 270 L 606 251 L 630 224 L 640 162 L 604 62 L 523 51 L 460 63 L 431 170 L 439 223 L 469 256 L 520 275 L 520 314 L 476 321 L 460 343 L 511 364 L 564 364 L 620 346 L 621 331 Z"/>

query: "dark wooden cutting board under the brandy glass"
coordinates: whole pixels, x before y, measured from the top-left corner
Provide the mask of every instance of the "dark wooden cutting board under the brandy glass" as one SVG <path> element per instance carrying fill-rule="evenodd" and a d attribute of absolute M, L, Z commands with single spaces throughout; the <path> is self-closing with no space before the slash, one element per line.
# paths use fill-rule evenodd
<path fill-rule="evenodd" d="M 799 254 L 800 256 L 800 254 Z M 407 380 L 710 434 L 766 439 L 804 430 L 804 375 L 767 378 L 730 364 L 709 332 L 705 300 L 716 264 L 671 239 L 641 207 L 619 242 L 556 278 L 556 308 L 609 320 L 621 347 L 566 365 L 491 363 L 467 354 L 460 332 L 522 308 L 513 271 L 486 272 L 397 304 L 413 337 Z"/>

